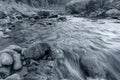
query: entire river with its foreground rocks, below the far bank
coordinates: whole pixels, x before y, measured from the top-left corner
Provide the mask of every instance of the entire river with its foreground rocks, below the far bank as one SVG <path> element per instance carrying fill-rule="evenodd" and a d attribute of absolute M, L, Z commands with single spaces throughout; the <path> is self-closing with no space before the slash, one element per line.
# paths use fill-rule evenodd
<path fill-rule="evenodd" d="M 1 19 L 1 79 L 119 80 L 120 21 L 64 16 Z"/>

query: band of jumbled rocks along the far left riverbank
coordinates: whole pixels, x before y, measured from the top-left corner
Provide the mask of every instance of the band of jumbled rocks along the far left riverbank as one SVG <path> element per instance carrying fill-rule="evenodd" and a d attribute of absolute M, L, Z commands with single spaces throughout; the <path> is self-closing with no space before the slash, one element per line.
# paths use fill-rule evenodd
<path fill-rule="evenodd" d="M 57 18 L 61 21 L 65 21 L 63 16 L 60 16 L 61 12 L 56 12 L 53 10 L 38 10 L 34 12 L 28 12 L 25 14 L 21 11 L 18 11 L 16 8 L 12 8 L 9 12 L 0 11 L 0 19 L 9 19 L 11 21 L 22 21 L 23 19 L 36 20 L 36 19 L 46 19 L 46 18 Z M 64 17 L 65 18 L 65 17 Z"/>

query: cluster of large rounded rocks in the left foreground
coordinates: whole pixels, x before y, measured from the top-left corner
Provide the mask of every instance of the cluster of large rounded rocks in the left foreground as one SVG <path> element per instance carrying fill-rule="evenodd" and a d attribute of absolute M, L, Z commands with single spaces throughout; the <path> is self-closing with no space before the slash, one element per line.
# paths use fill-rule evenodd
<path fill-rule="evenodd" d="M 53 60 L 47 43 L 35 42 L 28 48 L 10 45 L 0 51 L 0 79 L 21 80 L 15 72 L 39 60 Z"/>

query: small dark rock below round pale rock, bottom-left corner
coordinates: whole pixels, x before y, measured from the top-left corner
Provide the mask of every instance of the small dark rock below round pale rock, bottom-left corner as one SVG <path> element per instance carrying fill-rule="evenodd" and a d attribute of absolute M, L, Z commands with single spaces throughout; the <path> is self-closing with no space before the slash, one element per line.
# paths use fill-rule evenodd
<path fill-rule="evenodd" d="M 11 74 L 10 68 L 1 67 L 0 68 L 0 79 L 5 79 Z"/>

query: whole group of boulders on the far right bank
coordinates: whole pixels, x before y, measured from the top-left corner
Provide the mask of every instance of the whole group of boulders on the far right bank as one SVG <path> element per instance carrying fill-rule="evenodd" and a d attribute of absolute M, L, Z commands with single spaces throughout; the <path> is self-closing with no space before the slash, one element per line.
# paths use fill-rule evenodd
<path fill-rule="evenodd" d="M 72 0 L 66 5 L 66 11 L 90 18 L 117 18 L 120 16 L 119 0 Z"/>

